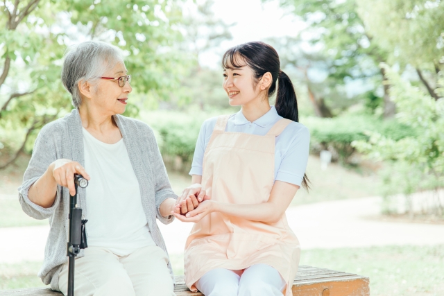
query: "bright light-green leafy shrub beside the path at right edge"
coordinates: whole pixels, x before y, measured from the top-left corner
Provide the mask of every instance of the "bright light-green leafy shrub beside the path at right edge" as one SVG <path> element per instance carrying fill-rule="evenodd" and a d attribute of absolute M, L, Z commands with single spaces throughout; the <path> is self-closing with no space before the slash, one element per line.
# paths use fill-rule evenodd
<path fill-rule="evenodd" d="M 383 160 L 403 173 L 403 192 L 407 195 L 420 189 L 438 188 L 444 184 L 444 99 L 434 100 L 422 89 L 402 80 L 400 75 L 387 65 L 391 83 L 391 98 L 398 107 L 398 120 L 418 130 L 416 134 L 396 139 L 381 132 L 373 132 L 368 140 L 358 140 L 352 145 L 368 157 Z M 441 81 L 443 85 L 444 80 Z M 399 168 L 404 169 L 400 170 Z M 398 168 L 398 169 L 396 169 Z M 417 178 L 409 177 L 415 171 Z M 411 180 L 411 181 L 409 181 Z M 389 183 L 389 182 L 388 182 Z M 443 205 L 437 201 L 437 210 L 443 213 Z"/>

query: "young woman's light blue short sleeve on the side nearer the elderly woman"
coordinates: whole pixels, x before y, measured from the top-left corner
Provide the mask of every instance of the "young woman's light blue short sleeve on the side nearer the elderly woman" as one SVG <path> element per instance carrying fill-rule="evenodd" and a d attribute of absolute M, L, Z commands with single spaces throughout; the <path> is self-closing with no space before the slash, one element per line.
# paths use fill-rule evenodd
<path fill-rule="evenodd" d="M 191 171 L 189 175 L 202 175 L 203 171 L 203 155 L 207 149 L 208 142 L 216 125 L 217 117 L 207 119 L 200 127 L 199 135 L 196 141 L 196 148 L 194 148 L 193 162 L 191 164 Z"/>

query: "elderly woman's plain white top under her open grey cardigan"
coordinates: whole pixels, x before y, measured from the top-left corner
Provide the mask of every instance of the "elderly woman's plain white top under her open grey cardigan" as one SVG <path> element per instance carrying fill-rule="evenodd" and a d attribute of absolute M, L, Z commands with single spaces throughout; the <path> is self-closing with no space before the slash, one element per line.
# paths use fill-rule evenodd
<path fill-rule="evenodd" d="M 140 247 L 155 245 L 146 222 L 139 182 L 123 139 L 107 144 L 83 128 L 87 243 L 126 256 Z"/>

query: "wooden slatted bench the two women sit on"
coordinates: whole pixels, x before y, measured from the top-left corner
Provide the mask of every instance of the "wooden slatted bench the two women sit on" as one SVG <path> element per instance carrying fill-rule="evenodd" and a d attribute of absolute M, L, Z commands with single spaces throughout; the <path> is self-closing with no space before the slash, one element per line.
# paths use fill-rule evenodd
<path fill-rule="evenodd" d="M 369 296 L 368 277 L 351 273 L 300 265 L 293 281 L 293 296 Z M 177 296 L 198 296 L 188 290 L 183 276 L 176 277 Z M 49 288 L 0 290 L 0 296 L 61 296 Z"/>

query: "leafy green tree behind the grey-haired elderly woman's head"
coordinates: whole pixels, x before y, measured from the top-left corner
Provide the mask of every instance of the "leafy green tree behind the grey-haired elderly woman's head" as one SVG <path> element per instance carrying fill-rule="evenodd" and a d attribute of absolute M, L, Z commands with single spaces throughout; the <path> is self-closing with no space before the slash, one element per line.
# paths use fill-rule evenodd
<path fill-rule="evenodd" d="M 12 155 L 0 167 L 31 148 L 42 125 L 71 109 L 60 82 L 67 46 L 83 40 L 105 40 L 126 53 L 135 94 L 144 100 L 167 100 L 183 72 L 181 2 L 162 0 L 0 2 L 0 134 Z M 181 72 L 182 71 L 182 72 Z M 128 105 L 127 114 L 137 114 Z M 14 146 L 14 138 L 23 137 Z M 15 148 L 15 151 L 12 152 Z"/>

